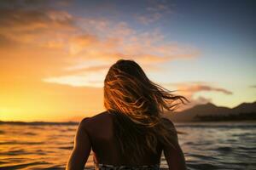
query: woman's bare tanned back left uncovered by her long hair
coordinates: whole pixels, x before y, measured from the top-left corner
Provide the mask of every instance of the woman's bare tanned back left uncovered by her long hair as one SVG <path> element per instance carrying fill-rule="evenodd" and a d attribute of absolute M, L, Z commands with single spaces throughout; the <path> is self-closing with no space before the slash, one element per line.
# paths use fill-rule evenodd
<path fill-rule="evenodd" d="M 125 159 L 120 152 L 120 146 L 113 134 L 113 114 L 107 111 L 83 120 L 84 128 L 90 136 L 92 150 L 96 153 L 96 159 L 100 164 L 131 165 L 131 159 Z M 157 153 L 148 150 L 139 162 L 133 165 L 160 164 L 162 146 L 157 145 Z M 131 157 L 131 156 L 127 156 Z"/>

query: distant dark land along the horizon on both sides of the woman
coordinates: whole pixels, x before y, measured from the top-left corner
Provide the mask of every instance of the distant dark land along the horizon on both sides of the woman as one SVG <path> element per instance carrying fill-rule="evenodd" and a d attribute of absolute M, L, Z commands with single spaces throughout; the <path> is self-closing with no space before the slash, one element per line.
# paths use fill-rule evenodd
<path fill-rule="evenodd" d="M 167 112 L 168 113 L 168 112 Z M 175 114 L 166 114 L 166 118 L 172 122 L 256 122 L 256 101 L 253 103 L 241 103 L 234 108 L 213 105 L 207 103 L 203 105 L 195 105 L 184 111 Z M 83 117 L 80 117 L 82 119 Z M 1 121 L 1 124 L 10 125 L 79 125 L 79 119 L 70 122 L 10 122 Z"/>

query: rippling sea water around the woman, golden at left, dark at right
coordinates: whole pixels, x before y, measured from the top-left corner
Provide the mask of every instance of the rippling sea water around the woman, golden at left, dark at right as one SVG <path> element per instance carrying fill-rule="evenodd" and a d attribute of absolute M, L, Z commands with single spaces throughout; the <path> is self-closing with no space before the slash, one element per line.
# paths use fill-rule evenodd
<path fill-rule="evenodd" d="M 190 170 L 256 169 L 256 122 L 176 124 Z M 64 169 L 77 126 L 0 125 L 0 169 Z M 162 156 L 162 168 L 167 167 Z M 86 168 L 93 167 L 91 156 Z"/>

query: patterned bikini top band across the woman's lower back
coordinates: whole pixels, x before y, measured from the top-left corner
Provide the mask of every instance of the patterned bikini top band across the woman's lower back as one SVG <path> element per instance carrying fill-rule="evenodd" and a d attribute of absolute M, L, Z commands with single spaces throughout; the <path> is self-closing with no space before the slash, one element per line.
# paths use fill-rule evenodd
<path fill-rule="evenodd" d="M 98 168 L 96 170 L 160 170 L 160 165 L 142 165 L 142 166 L 113 166 L 113 165 L 107 165 L 107 164 L 98 164 Z"/>

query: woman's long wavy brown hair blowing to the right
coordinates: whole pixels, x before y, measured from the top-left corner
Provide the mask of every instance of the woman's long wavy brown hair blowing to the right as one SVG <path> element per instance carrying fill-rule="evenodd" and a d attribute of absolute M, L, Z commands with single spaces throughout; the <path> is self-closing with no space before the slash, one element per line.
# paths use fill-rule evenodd
<path fill-rule="evenodd" d="M 131 162 L 148 150 L 156 153 L 159 141 L 172 145 L 174 129 L 161 117 L 184 101 L 188 100 L 151 82 L 133 60 L 119 59 L 104 81 L 104 106 L 115 117 L 114 134 L 122 155 L 130 156 Z"/>

